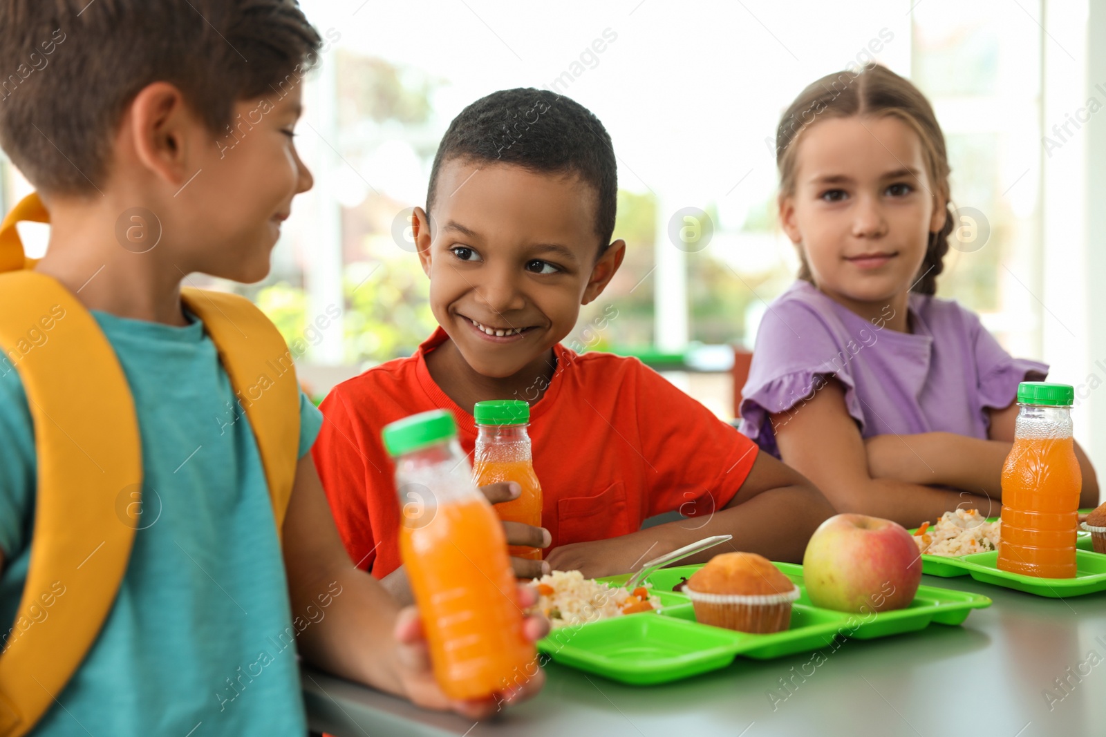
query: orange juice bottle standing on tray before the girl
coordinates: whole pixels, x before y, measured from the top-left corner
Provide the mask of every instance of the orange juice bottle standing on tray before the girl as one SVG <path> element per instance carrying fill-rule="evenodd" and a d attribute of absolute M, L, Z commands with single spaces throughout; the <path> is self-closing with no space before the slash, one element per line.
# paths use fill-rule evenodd
<path fill-rule="evenodd" d="M 1075 390 L 1063 383 L 1018 387 L 1014 446 L 1002 468 L 1000 570 L 1075 577 L 1083 474 L 1072 440 L 1074 399 Z"/>

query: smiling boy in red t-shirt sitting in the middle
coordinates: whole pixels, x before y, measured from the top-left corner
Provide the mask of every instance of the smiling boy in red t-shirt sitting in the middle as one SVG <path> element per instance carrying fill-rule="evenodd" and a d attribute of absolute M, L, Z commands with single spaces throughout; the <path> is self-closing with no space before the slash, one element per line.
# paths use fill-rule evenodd
<path fill-rule="evenodd" d="M 554 93 L 493 93 L 446 131 L 413 219 L 441 327 L 415 356 L 336 387 L 314 449 L 346 549 L 394 592 L 405 588 L 400 509 L 380 429 L 436 408 L 452 412 L 471 452 L 476 402 L 535 398 L 543 526 L 504 527 L 513 545 L 552 549 L 544 561 L 512 559 L 520 577 L 620 573 L 727 533 L 738 549 L 799 560 L 833 514 L 800 474 L 638 360 L 560 345 L 625 255 L 611 240 L 616 175 L 599 120 Z M 639 529 L 677 509 L 692 518 Z"/>

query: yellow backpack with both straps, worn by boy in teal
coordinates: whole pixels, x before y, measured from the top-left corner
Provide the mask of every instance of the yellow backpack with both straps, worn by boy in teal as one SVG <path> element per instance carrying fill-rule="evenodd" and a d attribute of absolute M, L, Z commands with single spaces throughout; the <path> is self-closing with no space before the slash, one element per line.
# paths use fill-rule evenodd
<path fill-rule="evenodd" d="M 23 255 L 20 220 L 49 222 L 36 194 L 0 223 L 0 371 L 19 371 L 38 455 L 32 555 L 0 653 L 0 737 L 30 731 L 95 642 L 126 573 L 142 508 L 142 440 L 123 367 L 74 295 L 25 271 L 35 262 Z M 205 323 L 249 418 L 279 535 L 299 461 L 291 354 L 249 301 L 198 289 L 182 298 Z M 39 623 L 43 611 L 49 627 Z"/>

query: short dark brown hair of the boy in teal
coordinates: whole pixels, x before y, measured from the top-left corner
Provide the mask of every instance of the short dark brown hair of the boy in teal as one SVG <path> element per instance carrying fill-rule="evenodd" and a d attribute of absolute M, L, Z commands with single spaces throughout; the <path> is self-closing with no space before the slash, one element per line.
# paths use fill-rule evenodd
<path fill-rule="evenodd" d="M 0 0 L 0 146 L 74 196 L 106 177 L 145 86 L 176 85 L 218 134 L 236 102 L 298 83 L 322 41 L 295 0 Z"/>

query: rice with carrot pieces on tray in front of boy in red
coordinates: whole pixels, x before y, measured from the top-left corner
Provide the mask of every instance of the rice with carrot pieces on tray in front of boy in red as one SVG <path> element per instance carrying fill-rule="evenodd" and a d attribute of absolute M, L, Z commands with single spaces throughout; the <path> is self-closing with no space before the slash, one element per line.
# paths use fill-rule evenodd
<path fill-rule="evenodd" d="M 584 578 L 578 570 L 555 570 L 533 580 L 538 604 L 555 630 L 561 627 L 586 624 L 601 619 L 660 609 L 660 599 L 648 586 L 634 591 Z"/>

